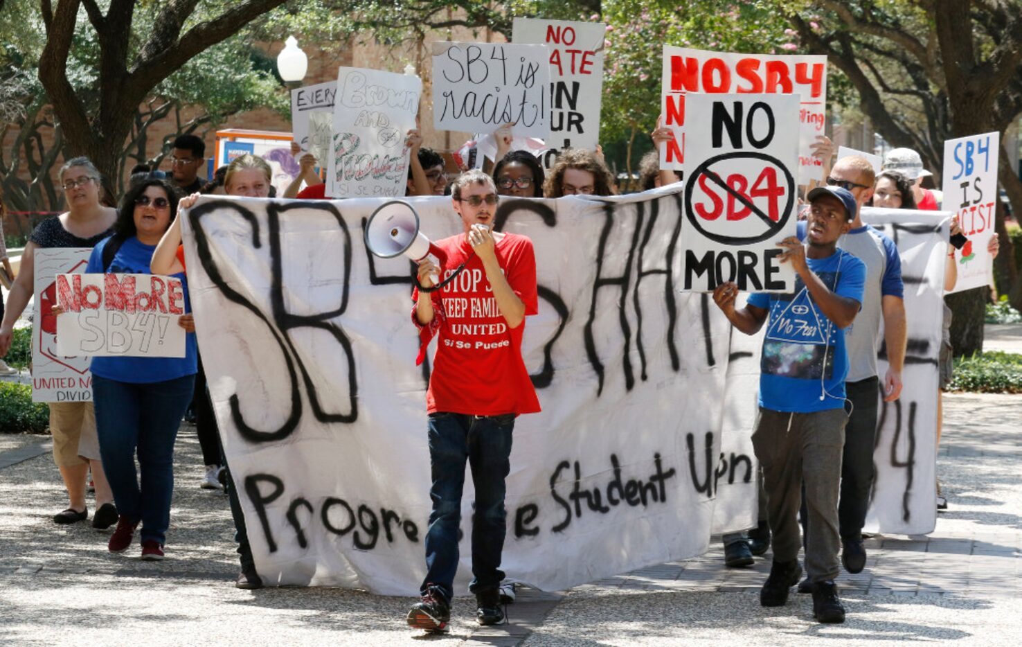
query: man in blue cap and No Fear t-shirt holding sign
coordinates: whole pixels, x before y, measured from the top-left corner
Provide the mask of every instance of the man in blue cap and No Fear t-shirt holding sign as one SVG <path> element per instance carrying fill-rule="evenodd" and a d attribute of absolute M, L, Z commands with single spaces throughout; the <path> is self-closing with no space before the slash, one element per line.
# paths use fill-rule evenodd
<path fill-rule="evenodd" d="M 866 266 L 837 248 L 838 238 L 855 217 L 851 193 L 818 187 L 808 199 L 807 244 L 795 236 L 778 243 L 784 248 L 779 259 L 797 274 L 794 292 L 751 294 L 746 306 L 736 310 L 738 286 L 728 282 L 713 290 L 713 301 L 746 334 L 755 334 L 766 322 L 752 445 L 763 470 L 774 564 L 759 602 L 781 606 L 798 584 L 798 507 L 804 482 L 809 523 L 805 569 L 814 583 L 812 614 L 821 622 L 842 622 L 844 607 L 834 579 L 840 570 L 837 501 L 847 421 L 843 330 L 862 306 Z"/>

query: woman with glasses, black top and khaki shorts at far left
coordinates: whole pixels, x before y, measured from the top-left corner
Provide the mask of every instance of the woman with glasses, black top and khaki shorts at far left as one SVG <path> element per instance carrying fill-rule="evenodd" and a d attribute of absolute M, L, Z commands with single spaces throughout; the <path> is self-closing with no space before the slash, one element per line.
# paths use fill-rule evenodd
<path fill-rule="evenodd" d="M 92 247 L 109 235 L 117 212 L 103 206 L 99 199 L 102 192 L 99 171 L 88 157 L 68 159 L 60 168 L 60 186 L 67 199 L 67 211 L 39 223 L 21 251 L 17 278 L 11 286 L 0 324 L 0 357 L 10 349 L 14 322 L 21 316 L 35 291 L 35 268 L 38 248 Z M 49 306 L 56 301 L 55 284 L 40 295 L 40 311 L 46 325 L 51 314 Z M 118 511 L 113 506 L 110 487 L 106 483 L 96 438 L 96 419 L 91 402 L 54 402 L 50 406 L 50 433 L 53 435 L 53 460 L 60 470 L 67 492 L 67 509 L 53 517 L 56 523 L 75 523 L 88 518 L 85 490 L 89 469 L 96 487 L 96 514 L 92 525 L 106 529 L 117 523 Z"/>

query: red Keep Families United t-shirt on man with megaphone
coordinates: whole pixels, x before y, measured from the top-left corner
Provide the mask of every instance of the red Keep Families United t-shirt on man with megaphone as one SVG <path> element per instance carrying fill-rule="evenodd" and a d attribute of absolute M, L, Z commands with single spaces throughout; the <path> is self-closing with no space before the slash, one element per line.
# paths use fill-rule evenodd
<path fill-rule="evenodd" d="M 434 316 L 428 326 L 419 325 L 412 308 L 412 321 L 420 328 L 423 344 L 439 332 L 426 412 L 496 416 L 540 411 L 536 388 L 521 359 L 525 322 L 517 328 L 508 327 L 493 297 L 482 261 L 472 251 L 465 234 L 438 240 L 436 245 L 448 255 L 446 273 L 468 261 L 457 278 L 432 293 Z M 525 314 L 537 314 L 532 241 L 505 234 L 495 250 L 508 284 L 525 305 Z M 412 298 L 418 298 L 418 289 Z"/>

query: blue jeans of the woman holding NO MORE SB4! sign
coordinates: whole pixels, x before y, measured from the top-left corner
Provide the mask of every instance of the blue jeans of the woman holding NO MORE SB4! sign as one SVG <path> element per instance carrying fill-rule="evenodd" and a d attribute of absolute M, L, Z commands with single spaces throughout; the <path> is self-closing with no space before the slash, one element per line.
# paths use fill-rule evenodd
<path fill-rule="evenodd" d="M 174 441 L 194 375 L 148 384 L 92 376 L 103 471 L 118 512 L 142 522 L 142 541 L 165 543 L 174 492 Z M 135 454 L 142 472 L 135 474 Z"/>

